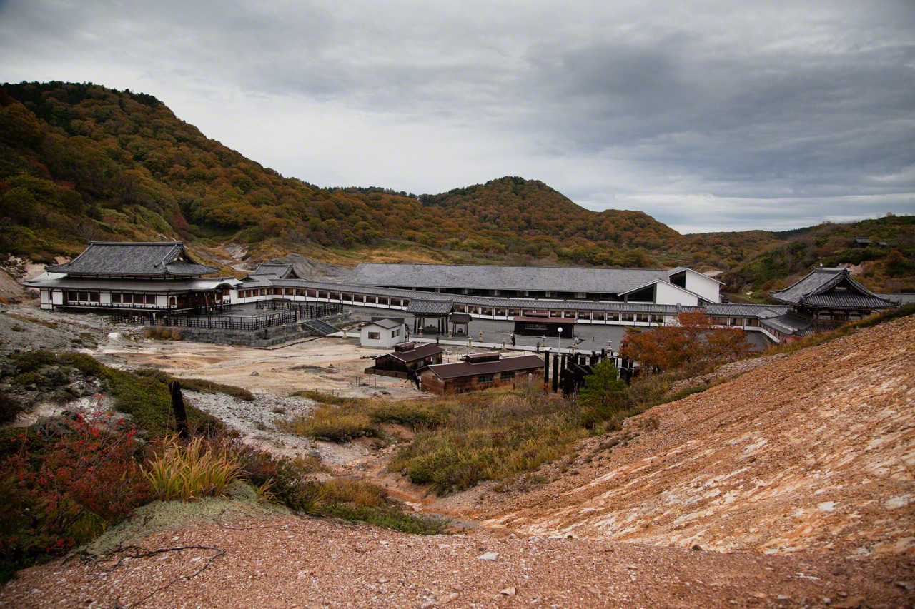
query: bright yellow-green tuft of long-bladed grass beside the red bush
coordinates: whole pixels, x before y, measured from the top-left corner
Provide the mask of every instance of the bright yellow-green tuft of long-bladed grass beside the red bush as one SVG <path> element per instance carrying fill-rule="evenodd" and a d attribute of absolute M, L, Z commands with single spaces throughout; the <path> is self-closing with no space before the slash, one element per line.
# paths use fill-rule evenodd
<path fill-rule="evenodd" d="M 143 468 L 153 493 L 163 501 L 219 497 L 239 479 L 239 460 L 202 437 L 182 443 L 177 435 L 162 441 L 162 452 Z"/>

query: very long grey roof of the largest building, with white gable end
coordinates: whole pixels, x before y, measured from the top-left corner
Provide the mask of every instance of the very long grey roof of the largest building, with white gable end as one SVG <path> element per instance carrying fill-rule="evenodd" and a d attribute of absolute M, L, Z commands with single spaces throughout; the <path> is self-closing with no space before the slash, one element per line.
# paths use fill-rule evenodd
<path fill-rule="evenodd" d="M 343 283 L 450 289 L 499 286 L 500 290 L 623 294 L 646 283 L 666 282 L 668 274 L 659 269 L 362 262 Z"/>

